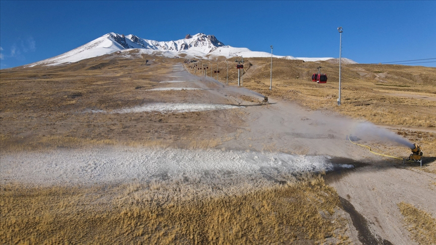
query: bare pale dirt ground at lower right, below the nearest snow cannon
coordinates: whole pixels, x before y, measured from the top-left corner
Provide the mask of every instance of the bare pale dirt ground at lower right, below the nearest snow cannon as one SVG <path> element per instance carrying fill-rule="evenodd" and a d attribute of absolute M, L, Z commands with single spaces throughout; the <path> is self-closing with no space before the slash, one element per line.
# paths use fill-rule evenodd
<path fill-rule="evenodd" d="M 392 244 L 417 244 L 404 225 L 397 206 L 401 202 L 413 204 L 433 217 L 436 215 L 436 176 L 422 171 L 419 165 L 374 159 L 354 170 L 328 174 L 327 179 L 342 197 L 343 205 L 350 203 L 366 220 L 361 222 L 350 213 L 349 223 L 363 226 L 357 232 L 352 230 L 353 236 L 363 244 L 370 240 L 365 237 L 371 235 L 380 244 L 384 239 Z M 365 226 L 369 234 L 365 233 Z"/>

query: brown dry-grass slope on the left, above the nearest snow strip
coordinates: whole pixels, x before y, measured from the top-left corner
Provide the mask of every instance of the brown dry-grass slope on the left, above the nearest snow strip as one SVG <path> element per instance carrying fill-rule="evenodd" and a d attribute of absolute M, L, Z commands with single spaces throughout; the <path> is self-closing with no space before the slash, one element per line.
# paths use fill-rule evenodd
<path fill-rule="evenodd" d="M 153 60 L 144 66 L 144 58 Z M 207 99 L 204 91 L 147 91 L 168 80 L 181 59 L 95 58 L 57 67 L 0 72 L 0 143 L 2 151 L 41 150 L 90 145 L 171 146 L 207 148 L 220 144 L 214 135 L 234 133 L 217 128 L 237 114 L 213 112 L 93 113 L 155 101 L 191 102 Z M 161 86 L 161 85 L 160 85 Z"/>

